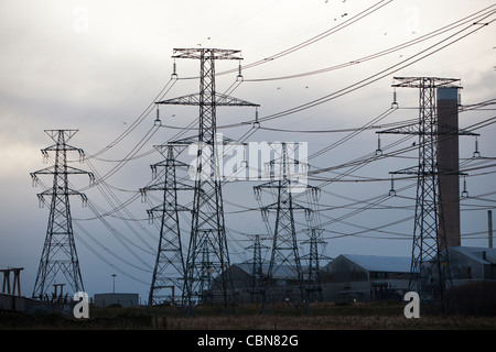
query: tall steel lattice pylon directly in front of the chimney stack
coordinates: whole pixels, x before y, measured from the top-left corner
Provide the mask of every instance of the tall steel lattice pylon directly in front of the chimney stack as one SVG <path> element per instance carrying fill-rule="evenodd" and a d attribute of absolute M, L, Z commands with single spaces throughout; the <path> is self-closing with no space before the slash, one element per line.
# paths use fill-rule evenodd
<path fill-rule="evenodd" d="M 409 290 L 417 292 L 423 301 L 439 305 L 442 312 L 452 310 L 448 292 L 452 277 L 448 253 L 446 227 L 441 201 L 440 177 L 459 175 L 457 170 L 443 169 L 439 164 L 439 141 L 446 135 L 470 134 L 453 131 L 439 123 L 436 113 L 438 88 L 460 88 L 460 79 L 436 77 L 395 77 L 392 87 L 418 88 L 419 120 L 417 123 L 393 128 L 377 133 L 418 135 L 418 166 L 391 172 L 390 174 L 417 175 L 417 201 L 413 228 Z M 395 99 L 396 100 L 396 99 Z M 457 157 L 457 156 L 456 156 Z"/>

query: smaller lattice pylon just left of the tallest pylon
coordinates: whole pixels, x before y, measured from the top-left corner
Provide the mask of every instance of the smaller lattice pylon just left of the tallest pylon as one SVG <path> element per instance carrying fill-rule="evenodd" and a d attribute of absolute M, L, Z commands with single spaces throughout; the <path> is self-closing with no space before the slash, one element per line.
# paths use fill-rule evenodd
<path fill-rule="evenodd" d="M 190 209 L 177 204 L 177 191 L 191 190 L 193 187 L 179 183 L 176 179 L 176 169 L 187 165 L 175 158 L 174 147 L 172 144 L 155 146 L 165 161 L 151 165 L 151 168 L 155 175 L 158 167 L 164 168 L 163 182 L 140 189 L 142 195 L 151 190 L 163 191 L 162 204 L 147 210 L 150 219 L 153 219 L 155 212 L 161 219 L 159 246 L 148 298 L 149 307 L 168 299 L 166 293 L 170 293 L 171 301 L 176 304 L 175 289 L 182 289 L 184 285 L 185 268 L 179 212 L 190 211 Z"/>

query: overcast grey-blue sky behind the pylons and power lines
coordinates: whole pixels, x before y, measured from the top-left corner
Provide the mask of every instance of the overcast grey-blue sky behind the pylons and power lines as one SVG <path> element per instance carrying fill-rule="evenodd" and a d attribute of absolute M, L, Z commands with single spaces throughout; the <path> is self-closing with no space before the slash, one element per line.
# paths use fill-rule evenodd
<path fill-rule="evenodd" d="M 309 102 L 319 102 L 263 121 L 262 129 L 246 141 L 306 142 L 309 154 L 313 154 L 352 132 L 301 131 L 364 127 L 390 108 L 395 76 L 460 78 L 463 105 L 494 99 L 496 24 L 492 21 L 496 15 L 479 19 L 476 24 L 474 21 L 456 22 L 490 6 L 494 2 L 485 0 L 2 1 L 0 266 L 24 267 L 22 294 L 31 296 L 48 216 L 47 207 L 39 209 L 36 194 L 43 188 L 32 188 L 30 179 L 31 172 L 47 166 L 43 164 L 40 150 L 51 145 L 52 141 L 43 131 L 77 129 L 79 131 L 69 144 L 91 155 L 110 145 L 143 111 L 148 111 L 165 85 L 170 90 L 164 99 L 197 92 L 198 80 L 184 79 L 198 75 L 197 61 L 176 59 L 180 79 L 170 80 L 173 48 L 240 50 L 241 65 L 247 67 L 241 69 L 244 81 L 231 95 L 259 103 L 258 116 L 262 120 L 295 107 L 306 107 L 304 105 Z M 367 9 L 369 11 L 364 12 Z M 360 13 L 363 15 L 357 18 Z M 459 25 L 449 26 L 454 23 Z M 434 32 L 445 26 L 445 32 Z M 330 31 L 332 29 L 334 31 Z M 429 33 L 435 35 L 424 37 Z M 302 43 L 305 45 L 300 46 Z M 405 43 L 411 45 L 398 47 Z M 387 55 L 377 55 L 393 47 L 397 50 Z M 292 50 L 291 53 L 285 52 L 288 50 Z M 287 55 L 278 55 L 280 53 Z M 248 67 L 259 62 L 263 63 Z M 229 69 L 233 73 L 217 77 L 218 91 L 233 87 L 238 73 L 237 62 L 217 63 L 217 73 Z M 316 70 L 322 72 L 309 74 Z M 296 77 L 291 77 L 293 75 Z M 343 95 L 337 94 L 339 91 Z M 418 90 L 399 88 L 397 97 L 399 107 L 405 109 L 388 114 L 379 124 L 417 118 L 418 111 L 411 108 L 418 106 Z M 219 132 L 239 139 L 250 131 L 249 123 L 240 123 L 251 121 L 255 114 L 252 108 L 219 108 L 218 125 L 237 124 L 219 129 Z M 137 255 L 126 250 L 122 239 L 109 233 L 109 228 L 100 220 L 93 220 L 95 215 L 83 208 L 77 198 L 72 198 L 72 213 L 77 221 L 76 246 L 85 289 L 90 295 L 110 292 L 110 275 L 117 274 L 116 290 L 139 293 L 141 299 L 148 297 L 158 231 L 148 223 L 145 210 L 150 205 L 140 202 L 138 189 L 151 180 L 149 165 L 161 160 L 159 153 L 151 153 L 153 145 L 176 138 L 181 128 L 197 118 L 197 109 L 162 106 L 160 117 L 165 127 L 153 129 L 153 109 L 125 139 L 90 160 L 90 164 L 74 165 L 87 170 L 94 167 L 99 175 L 120 166 L 106 178 L 111 187 L 106 188 L 107 191 L 116 197 L 112 204 L 96 187 L 85 190 L 101 213 L 132 199 L 125 207 L 128 212 L 112 212 L 105 219 L 119 229 L 119 235 Z M 492 117 L 494 110 L 488 109 L 463 112 L 460 125 L 470 127 Z M 274 131 L 281 129 L 294 132 Z M 148 139 L 150 131 L 154 134 Z M 377 148 L 375 132 L 363 131 L 325 151 L 310 161 L 311 167 L 333 167 L 374 153 Z M 482 155 L 496 156 L 496 127 L 489 124 L 475 132 L 481 133 Z M 183 136 L 192 134 L 194 131 Z M 145 143 L 139 144 L 145 136 Z M 401 138 L 387 135 L 381 143 L 387 146 Z M 391 151 L 411 145 L 413 140 L 405 141 Z M 472 172 L 477 175 L 466 178 L 470 195 L 478 199 L 463 202 L 462 244 L 487 245 L 484 234 L 487 209 L 496 197 L 484 195 L 496 191 L 494 174 L 490 174 L 494 168 L 487 167 L 490 164 L 487 161 L 466 161 L 473 155 L 474 142 L 473 138 L 461 138 L 461 158 L 468 166 L 482 166 Z M 139 150 L 134 150 L 137 145 Z M 130 155 L 136 157 L 125 164 L 118 163 Z M 382 179 L 380 182 L 342 182 L 323 187 L 321 220 L 326 223 L 323 237 L 328 256 L 342 253 L 411 254 L 413 222 L 408 218 L 414 215 L 414 187 L 401 193 L 399 196 L 402 197 L 390 198 L 365 211 L 363 208 L 367 205 L 365 201 L 388 194 L 389 172 L 416 164 L 417 154 L 412 151 L 400 157 L 373 162 L 344 177 L 344 180 L 371 177 Z M 335 173 L 347 170 L 338 168 Z M 319 186 L 335 177 L 335 173 L 321 173 L 320 179 L 310 179 L 310 183 Z M 75 175 L 71 180 L 79 189 L 87 186 L 83 176 Z M 46 176 L 43 183 L 50 187 L 52 180 Z M 411 184 L 411 180 L 399 182 L 397 187 Z M 233 262 L 249 256 L 244 248 L 250 242 L 242 233 L 267 232 L 260 212 L 247 210 L 258 206 L 252 193 L 255 185 L 257 183 L 245 182 L 224 188 Z M 160 195 L 155 196 L 157 201 Z M 407 220 L 382 228 L 382 232 L 374 230 L 401 219 Z M 80 228 L 98 239 L 101 245 Z M 184 229 L 187 239 L 186 222 Z"/>

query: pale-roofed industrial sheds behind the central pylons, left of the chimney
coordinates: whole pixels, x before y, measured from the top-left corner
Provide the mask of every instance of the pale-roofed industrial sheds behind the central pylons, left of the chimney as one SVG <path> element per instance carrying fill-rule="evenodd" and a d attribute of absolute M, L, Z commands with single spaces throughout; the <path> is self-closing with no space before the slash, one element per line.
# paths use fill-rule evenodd
<path fill-rule="evenodd" d="M 267 277 L 268 270 L 268 264 L 262 265 L 262 277 Z M 302 271 L 305 278 L 308 268 L 303 266 Z M 247 263 L 233 264 L 230 267 L 238 304 L 260 302 L 263 297 L 266 282 L 255 287 L 251 272 L 252 265 Z M 321 270 L 322 299 L 396 299 L 408 286 L 409 272 L 409 257 L 343 254 Z M 304 279 L 303 285 L 308 284 Z M 291 265 L 277 267 L 270 285 L 270 301 L 299 301 L 300 296 L 296 271 Z"/>

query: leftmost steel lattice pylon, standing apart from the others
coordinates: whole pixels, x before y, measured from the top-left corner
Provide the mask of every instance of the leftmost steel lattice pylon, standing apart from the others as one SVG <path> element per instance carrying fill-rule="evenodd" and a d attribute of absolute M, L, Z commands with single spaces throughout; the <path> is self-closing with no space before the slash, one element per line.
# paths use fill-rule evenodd
<path fill-rule="evenodd" d="M 84 204 L 87 197 L 69 187 L 68 175 L 86 174 L 89 175 L 90 182 L 94 180 L 91 173 L 67 165 L 67 152 L 78 152 L 79 161 L 84 160 L 82 148 L 66 144 L 77 130 L 45 130 L 45 132 L 55 144 L 42 150 L 44 161 L 48 160 L 48 152 L 55 152 L 55 161 L 53 166 L 31 173 L 34 184 L 37 183 L 39 175 L 53 175 L 52 188 L 37 195 L 41 205 L 43 205 L 45 196 L 50 196 L 52 199 L 46 239 L 34 284 L 33 298 L 46 297 L 48 288 L 56 278 L 61 277 L 60 273 L 64 275 L 74 293 L 84 290 L 74 241 L 69 196 L 79 196 Z"/>

